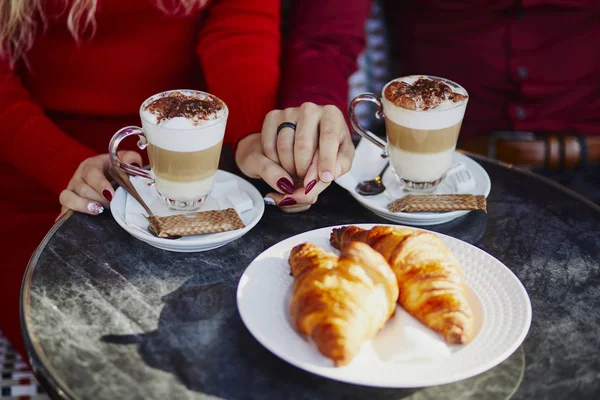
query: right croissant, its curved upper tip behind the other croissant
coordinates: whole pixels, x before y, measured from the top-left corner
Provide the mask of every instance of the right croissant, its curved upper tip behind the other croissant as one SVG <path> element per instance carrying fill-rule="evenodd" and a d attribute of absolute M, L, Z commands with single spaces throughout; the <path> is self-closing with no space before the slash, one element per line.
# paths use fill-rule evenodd
<path fill-rule="evenodd" d="M 456 257 L 436 235 L 416 229 L 348 226 L 334 229 L 331 245 L 338 249 L 364 242 L 388 261 L 398 279 L 400 305 L 446 342 L 471 340 L 473 313 L 466 300 Z"/>

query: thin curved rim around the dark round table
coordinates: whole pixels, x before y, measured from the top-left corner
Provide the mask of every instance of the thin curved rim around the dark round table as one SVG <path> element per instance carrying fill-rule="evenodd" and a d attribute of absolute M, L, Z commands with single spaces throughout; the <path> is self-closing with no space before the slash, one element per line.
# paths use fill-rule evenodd
<path fill-rule="evenodd" d="M 523 175 L 528 175 L 528 176 L 532 177 L 533 179 L 540 180 L 540 181 L 554 187 L 555 189 L 558 189 L 558 190 L 562 191 L 563 193 L 583 202 L 584 204 L 586 204 L 587 206 L 589 206 L 596 212 L 600 213 L 600 205 L 597 205 L 593 201 L 591 201 L 591 200 L 583 197 L 579 193 L 559 184 L 558 182 L 551 180 L 550 178 L 546 178 L 545 176 L 537 174 L 533 171 L 529 171 L 527 169 L 514 166 L 513 164 L 494 160 L 494 159 L 491 159 L 491 158 L 488 158 L 488 157 L 485 157 L 485 156 L 482 156 L 479 154 L 475 154 L 475 153 L 471 153 L 471 152 L 467 152 L 467 151 L 463 151 L 463 150 L 458 150 L 458 151 L 460 151 L 461 153 L 463 153 L 475 160 L 481 160 L 481 161 L 485 161 L 485 162 L 488 162 L 491 164 L 495 164 L 495 165 L 513 170 L 517 173 L 520 173 Z M 74 396 L 73 393 L 71 393 L 67 389 L 67 386 L 64 384 L 64 382 L 62 382 L 60 380 L 60 378 L 57 378 L 55 374 L 52 374 L 52 368 L 50 367 L 50 363 L 49 363 L 46 355 L 44 354 L 44 350 L 41 348 L 39 342 L 34 340 L 32 338 L 32 334 L 30 334 L 31 330 L 28 329 L 27 316 L 30 314 L 29 310 L 30 310 L 30 299 L 31 299 L 30 298 L 31 280 L 32 280 L 33 272 L 35 270 L 37 261 L 41 255 L 42 251 L 44 250 L 44 248 L 46 247 L 46 245 L 52 238 L 52 236 L 54 236 L 54 234 L 62 226 L 62 224 L 67 219 L 69 219 L 73 214 L 74 214 L 74 212 L 72 210 L 63 214 L 61 216 L 61 218 L 58 221 L 56 221 L 56 223 L 52 226 L 52 228 L 50 228 L 50 230 L 48 231 L 46 236 L 44 236 L 44 239 L 42 239 L 40 244 L 34 250 L 33 254 L 31 255 L 31 258 L 29 259 L 29 262 L 27 263 L 27 268 L 25 269 L 25 273 L 23 275 L 23 280 L 21 283 L 21 295 L 20 295 L 20 301 L 19 301 L 21 336 L 23 338 L 23 344 L 25 345 L 24 347 L 25 347 L 25 351 L 27 352 L 27 358 L 29 360 L 29 364 L 31 365 L 34 374 L 36 375 L 36 377 L 38 378 L 40 383 L 42 385 L 44 385 L 44 388 L 47 389 L 48 392 L 54 393 L 57 397 L 59 397 L 61 399 L 69 399 L 69 400 L 76 399 L 76 397 Z"/>

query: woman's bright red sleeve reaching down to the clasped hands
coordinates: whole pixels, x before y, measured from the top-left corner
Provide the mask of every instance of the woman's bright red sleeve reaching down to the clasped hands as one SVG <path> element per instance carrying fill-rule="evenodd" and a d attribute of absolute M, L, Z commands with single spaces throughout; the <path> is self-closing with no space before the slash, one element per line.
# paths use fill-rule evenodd
<path fill-rule="evenodd" d="M 209 92 L 229 108 L 225 142 L 260 132 L 277 106 L 280 1 L 215 0 L 199 33 L 197 54 Z"/>

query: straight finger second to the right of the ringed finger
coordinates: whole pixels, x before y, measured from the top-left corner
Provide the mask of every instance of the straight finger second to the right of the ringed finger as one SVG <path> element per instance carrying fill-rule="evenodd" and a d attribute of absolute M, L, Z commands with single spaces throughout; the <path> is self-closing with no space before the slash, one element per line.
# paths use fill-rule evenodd
<path fill-rule="evenodd" d="M 338 149 L 342 138 L 344 117 L 335 106 L 324 108 L 319 125 L 319 178 L 325 183 L 335 179 Z"/>

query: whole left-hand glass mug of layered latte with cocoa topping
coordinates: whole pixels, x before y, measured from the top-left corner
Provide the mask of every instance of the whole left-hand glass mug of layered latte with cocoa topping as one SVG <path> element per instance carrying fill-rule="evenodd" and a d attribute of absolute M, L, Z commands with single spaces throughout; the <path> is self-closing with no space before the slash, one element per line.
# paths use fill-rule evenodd
<path fill-rule="evenodd" d="M 129 175 L 148 179 L 169 208 L 196 210 L 215 184 L 227 116 L 225 103 L 210 93 L 158 93 L 140 107 L 141 128 L 128 126 L 112 137 L 111 162 Z M 150 171 L 118 158 L 119 144 L 132 135 L 139 136 L 140 149 L 147 149 Z"/>

